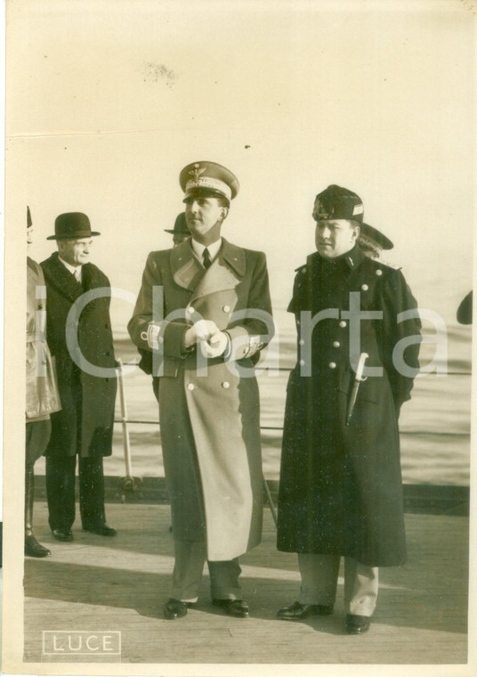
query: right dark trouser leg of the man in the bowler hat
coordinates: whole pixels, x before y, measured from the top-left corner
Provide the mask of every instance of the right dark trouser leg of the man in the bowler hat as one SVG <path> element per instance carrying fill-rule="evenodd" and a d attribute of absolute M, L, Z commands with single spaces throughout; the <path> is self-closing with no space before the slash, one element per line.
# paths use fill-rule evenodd
<path fill-rule="evenodd" d="M 79 469 L 79 511 L 83 528 L 101 526 L 106 522 L 104 509 L 104 475 L 102 456 L 81 458 Z"/>

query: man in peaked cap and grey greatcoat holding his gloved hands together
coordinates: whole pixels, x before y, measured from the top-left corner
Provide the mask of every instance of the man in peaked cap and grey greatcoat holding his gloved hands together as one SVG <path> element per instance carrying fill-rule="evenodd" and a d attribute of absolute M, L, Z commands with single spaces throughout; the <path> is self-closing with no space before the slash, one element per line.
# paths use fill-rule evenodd
<path fill-rule="evenodd" d="M 254 364 L 273 333 L 265 255 L 222 238 L 237 178 L 214 162 L 182 169 L 191 239 L 150 253 L 128 329 L 153 352 L 173 534 L 164 614 L 198 600 L 207 561 L 213 604 L 248 615 L 239 555 L 261 540 L 263 474 Z"/>

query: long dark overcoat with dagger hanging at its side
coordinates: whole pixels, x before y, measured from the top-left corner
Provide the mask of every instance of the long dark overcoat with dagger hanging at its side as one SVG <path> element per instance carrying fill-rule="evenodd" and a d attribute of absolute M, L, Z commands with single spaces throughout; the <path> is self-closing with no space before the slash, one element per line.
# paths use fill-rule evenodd
<path fill-rule="evenodd" d="M 280 551 L 342 555 L 371 567 L 405 561 L 398 415 L 418 369 L 421 325 L 416 313 L 402 321 L 398 314 L 415 308 L 402 273 L 366 257 L 358 245 L 331 261 L 312 254 L 298 269 L 288 307 L 299 361 L 287 385 Z M 373 315 L 357 331 L 360 311 Z M 346 425 L 363 352 L 367 366 L 382 373 L 360 383 Z M 399 354 L 409 370 L 399 366 Z"/>

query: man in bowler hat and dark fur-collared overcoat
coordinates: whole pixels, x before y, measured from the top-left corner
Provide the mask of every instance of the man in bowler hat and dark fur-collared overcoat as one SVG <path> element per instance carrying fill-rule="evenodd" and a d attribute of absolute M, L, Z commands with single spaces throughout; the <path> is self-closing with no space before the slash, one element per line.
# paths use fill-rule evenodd
<path fill-rule="evenodd" d="M 58 251 L 41 264 L 48 294 L 48 346 L 56 360 L 62 404 L 61 412 L 52 414 L 45 452 L 49 524 L 58 541 L 73 540 L 77 458 L 83 529 L 116 535 L 106 522 L 102 469 L 103 456 L 111 454 L 117 388 L 110 285 L 89 263 L 98 235 L 85 214 L 61 214 L 54 235 L 47 238 L 56 241 Z M 99 289 L 96 296 L 93 292 Z"/>

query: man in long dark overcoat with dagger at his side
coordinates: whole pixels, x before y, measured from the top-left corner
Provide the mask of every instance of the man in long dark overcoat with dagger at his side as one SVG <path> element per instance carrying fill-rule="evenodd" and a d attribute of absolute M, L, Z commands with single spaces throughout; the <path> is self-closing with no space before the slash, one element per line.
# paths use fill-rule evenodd
<path fill-rule="evenodd" d="M 358 195 L 330 185 L 313 217 L 318 251 L 288 306 L 299 361 L 279 485 L 278 548 L 298 553 L 302 586 L 278 616 L 331 614 L 343 556 L 345 627 L 356 634 L 376 607 L 378 567 L 406 559 L 398 417 L 418 371 L 420 321 L 402 273 L 357 243 L 368 228 Z"/>

